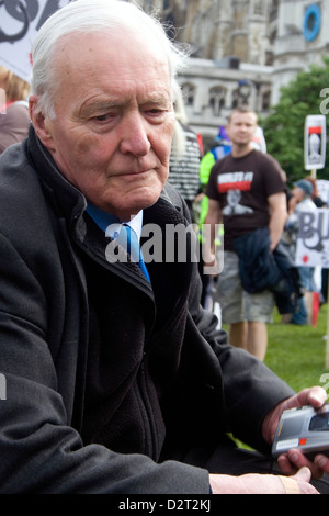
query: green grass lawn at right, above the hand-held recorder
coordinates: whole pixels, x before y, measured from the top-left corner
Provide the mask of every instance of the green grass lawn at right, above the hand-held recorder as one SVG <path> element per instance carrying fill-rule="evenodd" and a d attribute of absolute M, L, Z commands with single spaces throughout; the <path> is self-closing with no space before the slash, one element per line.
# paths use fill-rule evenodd
<path fill-rule="evenodd" d="M 329 370 L 326 369 L 328 305 L 320 309 L 316 327 L 281 324 L 280 315 L 268 325 L 269 346 L 264 363 L 295 391 L 322 385 L 329 394 Z M 322 378 L 328 372 L 327 378 Z"/>

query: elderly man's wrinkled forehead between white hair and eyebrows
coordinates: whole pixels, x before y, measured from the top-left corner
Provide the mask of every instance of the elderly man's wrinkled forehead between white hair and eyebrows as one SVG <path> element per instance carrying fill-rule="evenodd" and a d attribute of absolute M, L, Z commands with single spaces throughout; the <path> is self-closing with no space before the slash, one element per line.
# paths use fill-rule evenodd
<path fill-rule="evenodd" d="M 53 102 L 71 104 L 79 112 L 84 104 L 111 102 L 171 104 L 172 88 L 166 54 L 154 40 L 134 33 L 75 34 L 64 37 L 53 70 Z M 79 108 L 79 109 L 78 109 Z"/>

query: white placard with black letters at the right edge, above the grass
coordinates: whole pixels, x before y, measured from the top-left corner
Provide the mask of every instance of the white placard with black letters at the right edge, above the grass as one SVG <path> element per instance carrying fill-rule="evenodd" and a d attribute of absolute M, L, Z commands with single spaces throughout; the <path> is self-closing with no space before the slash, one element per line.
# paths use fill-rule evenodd
<path fill-rule="evenodd" d="M 296 265 L 329 268 L 329 210 L 299 212 Z"/>

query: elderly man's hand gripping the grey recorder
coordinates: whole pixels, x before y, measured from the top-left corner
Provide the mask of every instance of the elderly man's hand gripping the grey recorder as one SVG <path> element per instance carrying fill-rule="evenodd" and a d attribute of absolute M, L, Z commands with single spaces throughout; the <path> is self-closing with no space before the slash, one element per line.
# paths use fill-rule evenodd
<path fill-rule="evenodd" d="M 297 406 L 310 405 L 315 408 L 320 408 L 327 400 L 326 391 L 320 386 L 305 389 L 304 391 L 295 394 L 282 403 L 276 405 L 265 417 L 263 422 L 262 433 L 265 441 L 272 445 L 274 440 L 275 430 L 283 411 L 294 408 Z M 285 475 L 296 473 L 300 468 L 307 467 L 311 471 L 314 479 L 319 479 L 324 473 L 329 473 L 329 458 L 324 455 L 318 455 L 311 462 L 305 455 L 297 449 L 291 449 L 287 453 L 283 453 L 277 458 L 277 464 Z"/>

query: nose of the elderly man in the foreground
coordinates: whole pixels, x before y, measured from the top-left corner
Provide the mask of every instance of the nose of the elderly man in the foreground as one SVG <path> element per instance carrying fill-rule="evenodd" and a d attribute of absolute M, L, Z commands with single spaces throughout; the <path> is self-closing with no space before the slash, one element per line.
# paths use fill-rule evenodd
<path fill-rule="evenodd" d="M 120 149 L 123 154 L 145 156 L 150 149 L 147 121 L 140 113 L 129 114 L 122 125 Z"/>

